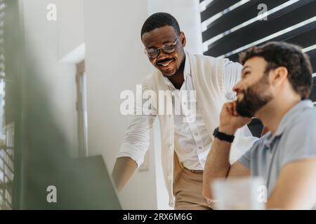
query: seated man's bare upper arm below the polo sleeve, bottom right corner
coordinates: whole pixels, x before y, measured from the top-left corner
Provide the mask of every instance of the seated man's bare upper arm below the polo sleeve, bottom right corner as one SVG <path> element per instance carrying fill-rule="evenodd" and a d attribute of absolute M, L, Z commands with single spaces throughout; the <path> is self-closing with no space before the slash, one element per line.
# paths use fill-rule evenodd
<path fill-rule="evenodd" d="M 290 162 L 281 169 L 266 207 L 267 209 L 311 209 L 316 204 L 315 189 L 316 158 Z"/>

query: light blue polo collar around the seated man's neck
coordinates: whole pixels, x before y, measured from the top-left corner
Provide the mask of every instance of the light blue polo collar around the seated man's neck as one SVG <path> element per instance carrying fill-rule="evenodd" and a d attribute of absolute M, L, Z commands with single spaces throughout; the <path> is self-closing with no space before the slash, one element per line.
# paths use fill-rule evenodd
<path fill-rule="evenodd" d="M 275 134 L 272 134 L 269 132 L 267 134 L 267 137 L 265 138 L 265 146 L 268 146 L 270 148 L 270 145 L 272 142 L 279 136 L 283 134 L 285 130 L 287 130 L 287 127 L 289 127 L 293 120 L 301 114 L 301 112 L 305 109 L 313 108 L 312 101 L 310 99 L 304 99 L 298 104 L 296 104 L 294 107 L 292 107 L 282 118 L 281 122 L 279 123 L 279 126 L 277 127 L 277 132 Z"/>

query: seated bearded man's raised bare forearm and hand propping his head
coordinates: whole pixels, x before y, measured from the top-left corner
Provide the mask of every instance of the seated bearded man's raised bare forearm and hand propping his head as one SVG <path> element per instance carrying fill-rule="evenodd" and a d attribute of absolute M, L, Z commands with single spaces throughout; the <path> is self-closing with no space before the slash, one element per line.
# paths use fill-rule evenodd
<path fill-rule="evenodd" d="M 236 102 L 229 102 L 223 105 L 220 112 L 219 131 L 225 134 L 235 134 L 239 127 L 249 123 L 250 118 L 244 118 L 237 114 Z M 247 176 L 250 170 L 242 165 L 241 162 L 235 162 L 230 166 L 230 146 L 227 141 L 214 139 L 211 151 L 206 159 L 203 176 L 202 194 L 209 200 L 213 199 L 211 194 L 211 184 L 214 179 L 227 178 L 228 176 Z"/>

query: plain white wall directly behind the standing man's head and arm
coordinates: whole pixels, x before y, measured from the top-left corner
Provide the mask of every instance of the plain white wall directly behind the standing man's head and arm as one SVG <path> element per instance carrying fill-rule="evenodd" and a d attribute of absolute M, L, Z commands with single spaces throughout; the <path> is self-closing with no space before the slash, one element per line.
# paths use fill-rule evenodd
<path fill-rule="evenodd" d="M 112 172 L 124 139 L 122 90 L 136 90 L 151 67 L 143 52 L 140 29 L 147 18 L 147 0 L 84 1 L 88 94 L 88 154 L 102 154 Z M 124 209 L 157 209 L 154 153 L 149 170 L 136 172 L 119 193 Z"/>

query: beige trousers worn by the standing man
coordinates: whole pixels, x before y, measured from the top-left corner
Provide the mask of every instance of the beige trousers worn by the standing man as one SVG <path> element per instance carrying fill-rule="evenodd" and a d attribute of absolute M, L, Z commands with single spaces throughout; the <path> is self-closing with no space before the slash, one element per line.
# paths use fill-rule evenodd
<path fill-rule="evenodd" d="M 175 210 L 210 210 L 211 206 L 202 195 L 203 171 L 192 171 L 184 168 L 173 184 L 176 198 Z"/>

